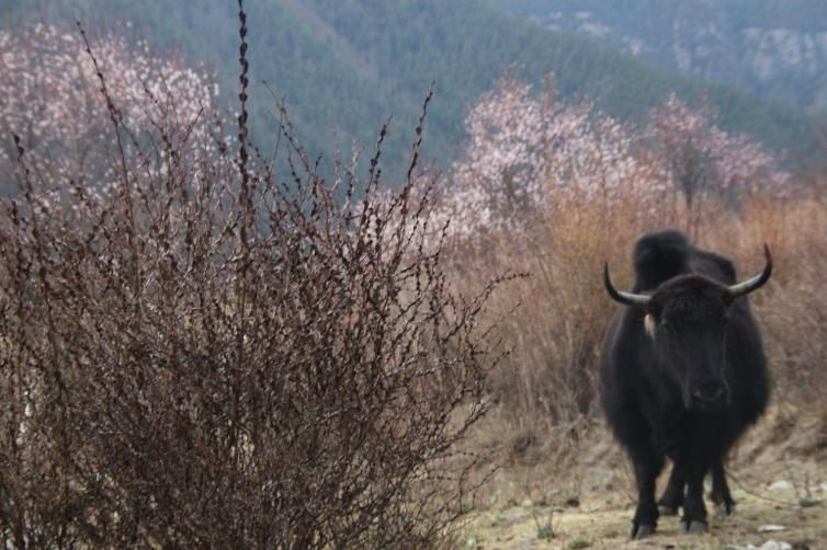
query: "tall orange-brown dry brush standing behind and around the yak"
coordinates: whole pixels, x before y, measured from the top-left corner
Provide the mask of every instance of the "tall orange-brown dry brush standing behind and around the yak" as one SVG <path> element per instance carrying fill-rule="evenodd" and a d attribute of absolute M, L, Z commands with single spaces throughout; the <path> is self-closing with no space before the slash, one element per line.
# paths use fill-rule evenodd
<path fill-rule="evenodd" d="M 701 221 L 688 226 L 681 202 L 641 211 L 630 200 L 556 205 L 529 234 L 492 239 L 461 253 L 458 280 L 474 288 L 486 274 L 510 268 L 529 274 L 494 297 L 514 346 L 492 374 L 496 406 L 475 429 L 478 446 L 496 448 L 503 466 L 488 488 L 488 502 L 524 499 L 564 502 L 581 492 L 584 445 L 597 427 L 597 360 L 605 323 L 616 306 L 602 287 L 608 261 L 619 286 L 631 285 L 631 252 L 643 232 L 678 227 L 696 242 L 735 260 L 740 277 L 762 265 L 761 245 L 773 253 L 769 285 L 750 299 L 762 328 L 774 380 L 773 400 L 812 403 L 827 419 L 827 204 L 816 192 L 779 200 L 751 197 L 740 208 L 706 199 Z M 513 311 L 513 303 L 520 306 Z M 510 313 L 509 313 L 510 312 Z M 827 423 L 823 424 L 827 433 Z M 814 446 L 827 437 L 817 438 Z M 600 451 L 597 451 L 600 452 Z M 605 455 L 605 452 L 604 452 Z M 622 458 L 604 458 L 610 469 Z"/>

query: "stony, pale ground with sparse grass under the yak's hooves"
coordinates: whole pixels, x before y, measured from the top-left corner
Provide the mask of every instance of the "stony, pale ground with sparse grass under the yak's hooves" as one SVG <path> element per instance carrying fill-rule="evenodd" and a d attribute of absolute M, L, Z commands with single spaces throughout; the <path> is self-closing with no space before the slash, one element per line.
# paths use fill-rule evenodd
<path fill-rule="evenodd" d="M 775 406 L 741 442 L 729 461 L 738 505 L 732 516 L 710 508 L 705 535 L 679 535 L 679 518 L 662 517 L 658 531 L 628 540 L 633 480 L 605 429 L 597 426 L 577 461 L 552 469 L 542 459 L 503 467 L 484 504 L 462 526 L 467 549 L 575 548 L 797 548 L 827 549 L 827 414 Z M 548 450 L 548 449 L 546 449 Z M 540 452 L 542 455 L 542 452 Z M 536 457 L 535 457 L 536 458 Z M 666 471 L 660 481 L 665 482 Z M 551 488 L 551 489 L 545 489 Z M 780 529 L 761 531 L 767 526 Z M 785 543 L 773 547 L 770 541 Z"/>

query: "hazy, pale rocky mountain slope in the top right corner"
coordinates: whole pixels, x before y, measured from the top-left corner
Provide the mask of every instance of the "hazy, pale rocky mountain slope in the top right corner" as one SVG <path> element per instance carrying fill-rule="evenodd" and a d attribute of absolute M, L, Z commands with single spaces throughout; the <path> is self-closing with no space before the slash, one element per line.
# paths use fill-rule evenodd
<path fill-rule="evenodd" d="M 827 111 L 824 0 L 495 0 L 653 67 Z"/>

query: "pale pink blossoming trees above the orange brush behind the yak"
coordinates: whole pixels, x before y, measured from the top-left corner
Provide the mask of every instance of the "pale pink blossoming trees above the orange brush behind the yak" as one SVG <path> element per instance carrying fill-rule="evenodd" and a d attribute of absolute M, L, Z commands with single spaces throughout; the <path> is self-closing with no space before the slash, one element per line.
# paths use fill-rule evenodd
<path fill-rule="evenodd" d="M 525 228 L 573 195 L 633 198 L 646 211 L 679 193 L 691 226 L 699 196 L 783 188 L 790 176 L 777 158 L 749 137 L 717 127 L 714 115 L 671 94 L 635 127 L 589 103 L 563 102 L 552 77 L 535 94 L 507 75 L 468 112 L 468 140 L 440 211 L 452 219 L 452 233 L 471 236 Z"/>

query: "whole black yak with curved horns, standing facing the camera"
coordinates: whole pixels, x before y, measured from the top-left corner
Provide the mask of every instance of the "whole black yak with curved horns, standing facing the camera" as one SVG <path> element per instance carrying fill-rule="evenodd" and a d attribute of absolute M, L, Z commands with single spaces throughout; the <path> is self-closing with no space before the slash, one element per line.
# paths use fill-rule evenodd
<path fill-rule="evenodd" d="M 635 245 L 636 282 L 619 291 L 605 265 L 609 295 L 626 307 L 609 324 L 601 352 L 601 401 L 615 438 L 628 454 L 637 484 L 632 538 L 657 527 L 659 515 L 683 508 L 681 532 L 706 530 L 703 480 L 727 514 L 733 501 L 724 460 L 769 400 L 761 334 L 746 295 L 772 272 L 736 283 L 728 259 L 701 250 L 679 231 L 643 236 Z M 655 501 L 665 459 L 666 491 Z"/>

